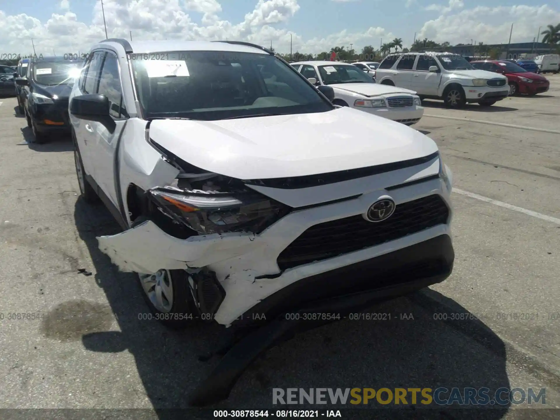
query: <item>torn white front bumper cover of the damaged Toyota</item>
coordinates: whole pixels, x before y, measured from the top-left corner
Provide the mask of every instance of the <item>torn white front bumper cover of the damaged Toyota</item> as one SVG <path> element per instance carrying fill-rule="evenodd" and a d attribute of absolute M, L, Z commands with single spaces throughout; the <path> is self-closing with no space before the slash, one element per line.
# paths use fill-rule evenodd
<path fill-rule="evenodd" d="M 433 168 L 437 173 L 437 159 L 428 166 L 418 174 L 433 173 Z M 360 182 L 365 181 L 362 179 Z M 372 203 L 388 193 L 397 207 L 410 200 L 438 194 L 451 208 L 450 190 L 441 178 L 406 185 L 390 192 L 375 188 L 373 181 L 370 185 L 373 185 L 372 190 L 357 198 L 292 211 L 259 235 L 227 233 L 192 236 L 183 240 L 166 234 L 155 223 L 147 221 L 121 234 L 99 237 L 99 248 L 125 272 L 154 273 L 162 268 L 206 267 L 216 274 L 226 293 L 214 319 L 220 324 L 230 325 L 260 301 L 301 279 L 370 260 L 433 237 L 451 235 L 450 210 L 447 223 L 334 258 L 284 270 L 279 268 L 278 256 L 308 228 L 364 214 Z"/>

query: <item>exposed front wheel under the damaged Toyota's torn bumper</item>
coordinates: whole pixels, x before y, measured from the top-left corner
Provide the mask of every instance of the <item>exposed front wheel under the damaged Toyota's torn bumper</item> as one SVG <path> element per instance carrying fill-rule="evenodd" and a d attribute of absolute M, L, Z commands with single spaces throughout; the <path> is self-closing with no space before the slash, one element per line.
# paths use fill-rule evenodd
<path fill-rule="evenodd" d="M 137 218 L 131 228 L 146 220 L 144 217 Z M 194 299 L 190 291 L 188 273 L 185 270 L 162 269 L 156 274 L 137 274 L 142 297 L 154 318 L 161 324 L 179 330 L 200 322 L 198 312 L 194 310 Z M 158 303 L 158 290 L 161 290 L 163 305 Z"/>

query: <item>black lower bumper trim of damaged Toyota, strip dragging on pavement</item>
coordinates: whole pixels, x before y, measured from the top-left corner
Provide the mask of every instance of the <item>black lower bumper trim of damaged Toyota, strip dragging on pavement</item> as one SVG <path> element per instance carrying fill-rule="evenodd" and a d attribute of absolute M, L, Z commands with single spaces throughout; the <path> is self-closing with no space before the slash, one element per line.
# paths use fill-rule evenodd
<path fill-rule="evenodd" d="M 268 321 L 242 337 L 225 354 L 211 375 L 190 397 L 190 404 L 207 406 L 227 399 L 237 379 L 262 352 L 295 333 L 332 320 L 304 320 L 302 314 L 339 314 L 366 309 L 444 281 L 455 259 L 451 238 L 441 235 L 376 258 L 301 279 L 265 298 L 235 321 L 239 328 L 254 324 L 262 314 Z M 291 316 L 286 316 L 290 314 Z M 293 316 L 295 314 L 295 316 Z M 288 319 L 289 318 L 289 319 Z"/>

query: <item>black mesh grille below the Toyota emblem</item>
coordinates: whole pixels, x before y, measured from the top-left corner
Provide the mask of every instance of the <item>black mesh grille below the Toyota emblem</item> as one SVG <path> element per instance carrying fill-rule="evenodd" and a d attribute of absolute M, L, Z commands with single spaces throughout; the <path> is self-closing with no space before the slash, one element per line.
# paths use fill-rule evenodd
<path fill-rule="evenodd" d="M 333 258 L 447 222 L 449 208 L 440 195 L 396 206 L 386 221 L 372 223 L 361 214 L 311 226 L 278 256 L 281 270 Z"/>

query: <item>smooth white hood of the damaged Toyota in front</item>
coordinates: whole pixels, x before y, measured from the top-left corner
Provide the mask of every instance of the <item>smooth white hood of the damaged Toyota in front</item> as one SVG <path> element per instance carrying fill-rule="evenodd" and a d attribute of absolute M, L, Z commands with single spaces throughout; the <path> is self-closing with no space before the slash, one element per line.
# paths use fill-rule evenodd
<path fill-rule="evenodd" d="M 150 137 L 189 164 L 237 179 L 324 174 L 437 151 L 415 129 L 347 107 L 233 120 L 153 120 Z"/>

